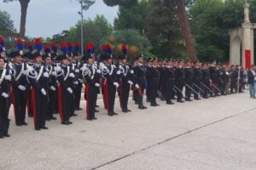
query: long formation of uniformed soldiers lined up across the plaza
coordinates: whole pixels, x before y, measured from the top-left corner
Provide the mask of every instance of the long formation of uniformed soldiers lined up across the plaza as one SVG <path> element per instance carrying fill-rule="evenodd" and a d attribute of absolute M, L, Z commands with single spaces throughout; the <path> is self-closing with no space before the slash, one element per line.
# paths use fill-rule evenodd
<path fill-rule="evenodd" d="M 35 130 L 48 129 L 46 121 L 56 120 L 70 125 L 72 116 L 80 108 L 82 88 L 86 99 L 85 114 L 96 120 L 97 96 L 102 94 L 108 116 L 114 111 L 116 93 L 123 112 L 130 112 L 130 92 L 138 109 L 145 110 L 143 96 L 150 106 L 158 106 L 157 98 L 172 105 L 173 100 L 208 99 L 226 94 L 241 93 L 245 72 L 238 65 L 190 62 L 183 59 L 143 59 L 137 55 L 127 62 L 128 48 L 122 45 L 122 54 L 116 62 L 112 48 L 102 45 L 103 53 L 96 57 L 92 43 L 85 46 L 86 54 L 79 58 L 79 43 L 55 42 L 43 45 L 18 39 L 17 48 L 7 53 L 0 37 L 0 138 L 9 137 L 9 108 L 14 106 L 16 126 L 26 126 L 26 115 L 33 118 Z M 25 47 L 26 46 L 26 50 Z M 26 53 L 24 53 L 26 51 Z M 255 77 L 255 72 L 253 73 Z M 183 93 L 184 92 L 184 93 Z M 145 94 L 145 95 L 144 95 Z M 254 95 L 254 94 L 253 94 Z M 27 113 L 27 114 L 26 114 Z"/>

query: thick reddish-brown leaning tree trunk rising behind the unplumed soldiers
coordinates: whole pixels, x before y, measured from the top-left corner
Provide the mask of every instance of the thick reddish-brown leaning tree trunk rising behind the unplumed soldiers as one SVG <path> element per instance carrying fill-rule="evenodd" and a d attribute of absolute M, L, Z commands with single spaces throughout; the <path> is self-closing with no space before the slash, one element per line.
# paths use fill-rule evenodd
<path fill-rule="evenodd" d="M 197 60 L 197 57 L 195 54 L 195 47 L 191 39 L 191 31 L 189 26 L 189 20 L 186 14 L 184 0 L 177 0 L 177 17 L 183 31 L 183 37 L 186 43 L 189 59 L 191 60 L 191 62 L 195 62 L 195 60 Z"/>

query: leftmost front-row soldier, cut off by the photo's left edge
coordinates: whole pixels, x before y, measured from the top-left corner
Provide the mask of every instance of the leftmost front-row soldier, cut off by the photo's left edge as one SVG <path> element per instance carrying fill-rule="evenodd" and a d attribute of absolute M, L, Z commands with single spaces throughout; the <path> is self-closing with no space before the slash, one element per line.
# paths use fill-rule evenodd
<path fill-rule="evenodd" d="M 0 139 L 9 135 L 9 93 L 11 76 L 0 46 Z"/>

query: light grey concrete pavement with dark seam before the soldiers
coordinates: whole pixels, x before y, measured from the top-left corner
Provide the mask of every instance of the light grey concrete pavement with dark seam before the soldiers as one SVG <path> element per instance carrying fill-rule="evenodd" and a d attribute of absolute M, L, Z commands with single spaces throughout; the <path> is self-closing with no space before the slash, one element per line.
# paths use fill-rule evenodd
<path fill-rule="evenodd" d="M 184 104 L 148 107 L 131 113 L 84 119 L 73 125 L 47 123 L 36 132 L 11 122 L 9 139 L 0 140 L 1 170 L 255 170 L 256 99 L 233 94 Z M 81 103 L 83 108 L 84 101 Z M 148 105 L 148 104 L 146 104 Z M 10 113 L 13 119 L 13 112 Z"/>

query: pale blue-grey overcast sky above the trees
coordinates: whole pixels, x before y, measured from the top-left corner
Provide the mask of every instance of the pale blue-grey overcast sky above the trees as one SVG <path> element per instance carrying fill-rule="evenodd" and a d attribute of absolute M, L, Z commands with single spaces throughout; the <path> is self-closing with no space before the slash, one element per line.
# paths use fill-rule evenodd
<path fill-rule="evenodd" d="M 80 8 L 76 0 L 31 0 L 27 9 L 26 36 L 52 37 L 63 30 L 69 29 L 80 20 Z M 0 10 L 7 11 L 15 28 L 20 30 L 20 3 L 3 3 L 0 0 Z M 94 19 L 96 14 L 103 14 L 109 23 L 117 17 L 118 7 L 108 7 L 102 0 L 96 0 L 87 11 L 85 19 Z"/>

